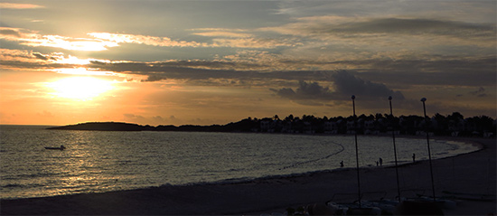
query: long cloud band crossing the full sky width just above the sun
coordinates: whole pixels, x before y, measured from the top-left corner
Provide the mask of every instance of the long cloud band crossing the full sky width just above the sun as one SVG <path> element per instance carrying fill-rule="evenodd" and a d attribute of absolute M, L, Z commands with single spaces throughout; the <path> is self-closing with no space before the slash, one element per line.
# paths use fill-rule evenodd
<path fill-rule="evenodd" d="M 356 71 L 363 80 L 386 83 L 397 88 L 413 85 L 459 85 L 494 86 L 497 59 L 494 55 L 417 56 L 407 53 L 395 59 L 379 53 L 371 58 L 335 60 L 298 59 L 268 52 L 239 52 L 218 60 L 170 60 L 170 61 L 107 61 L 64 57 L 61 52 L 41 53 L 2 49 L 0 61 L 3 68 L 53 70 L 59 68 L 85 67 L 89 70 L 113 71 L 123 74 L 148 76 L 143 81 L 203 80 L 204 84 L 231 81 L 264 85 L 262 80 L 330 80 L 330 71 L 346 69 Z M 409 56 L 412 58 L 409 59 Z M 354 72 L 352 72 L 354 73 Z M 475 76 L 474 74 L 478 74 Z M 230 82 L 226 82 L 226 81 Z M 205 82 L 207 81 L 207 82 Z M 221 83 L 220 82 L 220 83 Z M 235 83 L 233 82 L 233 83 Z M 220 84 L 219 83 L 219 84 Z M 198 83 L 202 84 L 202 83 Z M 213 82 L 211 83 L 213 84 Z M 402 89 L 404 89 L 402 87 Z"/>

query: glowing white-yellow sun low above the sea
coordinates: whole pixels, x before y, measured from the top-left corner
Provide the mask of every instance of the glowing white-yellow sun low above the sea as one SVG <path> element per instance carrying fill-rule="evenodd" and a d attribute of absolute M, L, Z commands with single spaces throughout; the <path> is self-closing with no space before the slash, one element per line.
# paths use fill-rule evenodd
<path fill-rule="evenodd" d="M 48 84 L 54 95 L 65 99 L 95 99 L 106 91 L 113 89 L 112 82 L 93 77 L 70 77 Z"/>

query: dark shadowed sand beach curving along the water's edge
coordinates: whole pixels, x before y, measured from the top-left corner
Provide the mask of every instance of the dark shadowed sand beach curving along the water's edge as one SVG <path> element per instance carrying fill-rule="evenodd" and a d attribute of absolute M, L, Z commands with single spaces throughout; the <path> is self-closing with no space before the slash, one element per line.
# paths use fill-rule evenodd
<path fill-rule="evenodd" d="M 435 137 L 482 145 L 474 153 L 433 161 L 436 196 L 451 193 L 496 193 L 496 139 Z M 401 196 L 432 194 L 427 161 L 399 167 Z M 396 169 L 369 167 L 360 170 L 364 200 L 397 196 Z M 131 191 L 74 194 L 44 198 L 2 200 L 2 215 L 165 215 L 238 214 L 280 212 L 312 203 L 352 202 L 357 198 L 354 169 L 316 172 L 286 177 L 263 178 L 244 183 L 165 185 Z M 349 194 L 345 194 L 349 193 Z M 445 215 L 496 214 L 490 202 L 456 200 Z"/>

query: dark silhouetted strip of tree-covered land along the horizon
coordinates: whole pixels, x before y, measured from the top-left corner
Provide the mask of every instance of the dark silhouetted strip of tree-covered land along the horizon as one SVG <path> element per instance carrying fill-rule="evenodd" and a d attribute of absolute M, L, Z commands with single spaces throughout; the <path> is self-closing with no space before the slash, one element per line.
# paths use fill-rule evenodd
<path fill-rule="evenodd" d="M 292 133 L 292 134 L 385 134 L 394 131 L 402 135 L 432 133 L 437 136 L 485 136 L 494 137 L 496 121 L 492 117 L 466 117 L 458 112 L 451 115 L 435 114 L 433 117 L 399 116 L 377 113 L 366 116 L 314 117 L 288 115 L 280 118 L 247 117 L 226 125 L 160 125 L 141 126 L 121 122 L 89 122 L 48 129 L 102 130 L 102 131 L 200 131 L 200 132 L 252 132 L 252 133 Z"/>

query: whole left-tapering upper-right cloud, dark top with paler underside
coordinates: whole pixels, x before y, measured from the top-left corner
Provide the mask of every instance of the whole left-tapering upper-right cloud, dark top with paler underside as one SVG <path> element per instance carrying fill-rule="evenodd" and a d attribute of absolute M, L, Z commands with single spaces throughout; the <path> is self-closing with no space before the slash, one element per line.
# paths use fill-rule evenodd
<path fill-rule="evenodd" d="M 494 23 L 464 23 L 427 18 L 308 16 L 294 23 L 263 27 L 259 31 L 305 37 L 361 50 L 424 50 L 430 46 L 479 46 L 493 48 Z"/>

